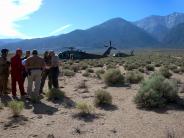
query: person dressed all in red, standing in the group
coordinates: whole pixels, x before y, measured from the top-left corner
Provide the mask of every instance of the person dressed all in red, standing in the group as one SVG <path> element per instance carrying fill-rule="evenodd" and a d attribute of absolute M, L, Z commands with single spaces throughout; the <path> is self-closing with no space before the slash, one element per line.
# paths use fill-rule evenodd
<path fill-rule="evenodd" d="M 11 79 L 12 79 L 12 95 L 16 97 L 16 83 L 18 82 L 20 94 L 24 96 L 26 93 L 24 91 L 24 83 L 23 83 L 23 65 L 22 65 L 22 50 L 17 49 L 15 56 L 11 58 Z"/>

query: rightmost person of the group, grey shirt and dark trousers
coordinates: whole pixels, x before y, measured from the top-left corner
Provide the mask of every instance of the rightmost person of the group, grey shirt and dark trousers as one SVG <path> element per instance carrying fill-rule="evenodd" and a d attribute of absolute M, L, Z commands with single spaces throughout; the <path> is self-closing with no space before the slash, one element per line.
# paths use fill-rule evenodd
<path fill-rule="evenodd" d="M 59 77 L 59 57 L 54 51 L 50 52 L 51 55 L 51 68 L 50 75 L 51 81 L 54 88 L 59 88 L 58 77 Z"/>

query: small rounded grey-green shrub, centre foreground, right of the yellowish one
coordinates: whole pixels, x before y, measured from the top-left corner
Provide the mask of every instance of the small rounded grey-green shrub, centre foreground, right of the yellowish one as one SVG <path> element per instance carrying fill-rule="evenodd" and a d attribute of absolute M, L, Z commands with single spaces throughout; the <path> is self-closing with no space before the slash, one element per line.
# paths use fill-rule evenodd
<path fill-rule="evenodd" d="M 94 104 L 95 106 L 111 105 L 112 96 L 104 90 L 98 90 L 95 93 Z"/>

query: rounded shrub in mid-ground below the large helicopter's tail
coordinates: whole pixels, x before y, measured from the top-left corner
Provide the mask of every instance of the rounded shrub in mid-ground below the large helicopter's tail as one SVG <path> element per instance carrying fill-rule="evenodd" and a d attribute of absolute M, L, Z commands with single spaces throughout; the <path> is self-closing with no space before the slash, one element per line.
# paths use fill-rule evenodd
<path fill-rule="evenodd" d="M 109 69 L 104 74 L 104 81 L 108 86 L 124 84 L 124 76 L 118 69 Z"/>

